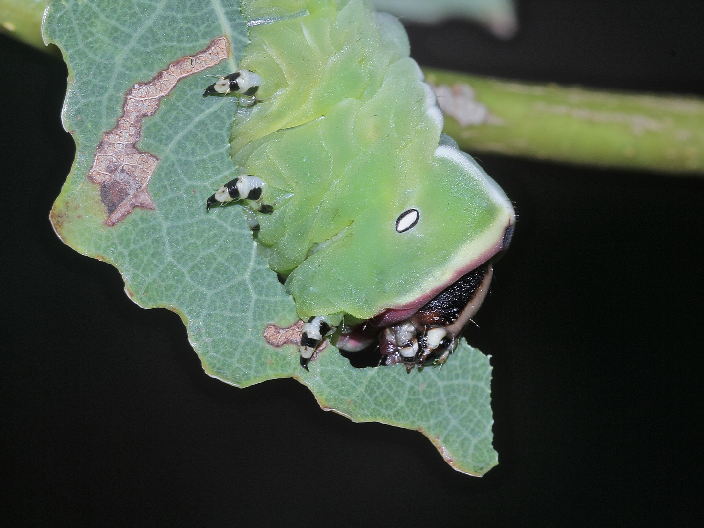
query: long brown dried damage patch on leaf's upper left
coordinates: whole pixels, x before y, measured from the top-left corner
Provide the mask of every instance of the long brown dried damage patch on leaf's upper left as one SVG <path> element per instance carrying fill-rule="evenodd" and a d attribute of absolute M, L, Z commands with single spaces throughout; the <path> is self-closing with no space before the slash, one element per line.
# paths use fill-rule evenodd
<path fill-rule="evenodd" d="M 225 60 L 227 49 L 227 39 L 219 37 L 199 54 L 170 63 L 151 81 L 134 84 L 127 92 L 118 125 L 103 134 L 88 172 L 89 179 L 100 185 L 100 200 L 108 211 L 106 225 L 117 224 L 135 207 L 154 208 L 146 186 L 159 159 L 135 147 L 142 137 L 142 119 L 154 115 L 161 99 L 184 77 Z"/>

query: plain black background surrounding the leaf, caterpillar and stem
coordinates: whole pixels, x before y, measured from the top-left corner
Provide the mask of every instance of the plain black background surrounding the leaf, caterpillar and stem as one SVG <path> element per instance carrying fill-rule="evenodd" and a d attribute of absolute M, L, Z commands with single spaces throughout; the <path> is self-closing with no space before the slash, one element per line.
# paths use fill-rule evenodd
<path fill-rule="evenodd" d="M 617 4 L 617 5 L 614 5 Z M 523 1 L 500 42 L 409 27 L 423 65 L 704 96 L 704 4 Z M 698 526 L 704 180 L 479 155 L 517 204 L 468 339 L 494 365 L 500 464 L 324 413 L 291 379 L 203 373 L 47 216 L 73 161 L 62 63 L 2 37 L 5 525 Z"/>

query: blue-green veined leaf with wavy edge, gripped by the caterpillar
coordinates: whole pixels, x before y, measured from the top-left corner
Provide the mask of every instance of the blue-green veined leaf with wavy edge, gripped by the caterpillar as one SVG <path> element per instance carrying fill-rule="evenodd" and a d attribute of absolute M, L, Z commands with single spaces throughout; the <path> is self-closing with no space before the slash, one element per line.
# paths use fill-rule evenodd
<path fill-rule="evenodd" d="M 201 94 L 213 82 L 207 75 L 237 69 L 248 44 L 238 1 L 52 1 L 44 35 L 70 72 L 63 123 L 77 153 L 51 213 L 66 244 L 115 265 L 140 306 L 179 313 L 209 375 L 239 387 L 294 377 L 325 410 L 420 430 L 456 470 L 481 475 L 496 465 L 489 358 L 464 339 L 442 368 L 410 373 L 403 365 L 352 367 L 334 346 L 306 372 L 296 346 L 265 340 L 268 325 L 297 322 L 294 301 L 256 251 L 243 210 L 205 210 L 213 190 L 234 177 L 228 136 L 237 99 Z M 161 94 L 156 113 L 130 121 L 134 150 L 145 153 L 130 160 L 157 160 L 140 194 L 150 202 L 106 225 L 106 192 L 88 175 L 103 134 L 120 126 L 125 95 L 223 36 L 228 58 L 181 78 Z M 120 172 L 120 182 L 139 194 L 130 174 Z"/>

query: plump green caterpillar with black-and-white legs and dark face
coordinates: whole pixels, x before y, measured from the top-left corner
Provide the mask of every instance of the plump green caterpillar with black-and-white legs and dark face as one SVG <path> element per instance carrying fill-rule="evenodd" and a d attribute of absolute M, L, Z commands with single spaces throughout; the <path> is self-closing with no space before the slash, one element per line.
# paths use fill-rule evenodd
<path fill-rule="evenodd" d="M 270 268 L 306 321 L 301 365 L 337 346 L 382 363 L 441 362 L 482 303 L 515 213 L 442 134 L 398 20 L 367 0 L 243 0 L 251 44 L 206 94 L 243 96 L 237 177 Z M 226 214 L 226 210 L 218 214 Z"/>

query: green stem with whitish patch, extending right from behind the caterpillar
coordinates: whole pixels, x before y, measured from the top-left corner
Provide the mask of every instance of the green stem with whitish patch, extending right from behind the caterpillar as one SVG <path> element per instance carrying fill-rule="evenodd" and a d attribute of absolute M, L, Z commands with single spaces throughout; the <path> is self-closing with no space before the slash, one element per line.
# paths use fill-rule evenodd
<path fill-rule="evenodd" d="M 704 100 L 524 84 L 425 69 L 462 149 L 702 174 Z"/>

